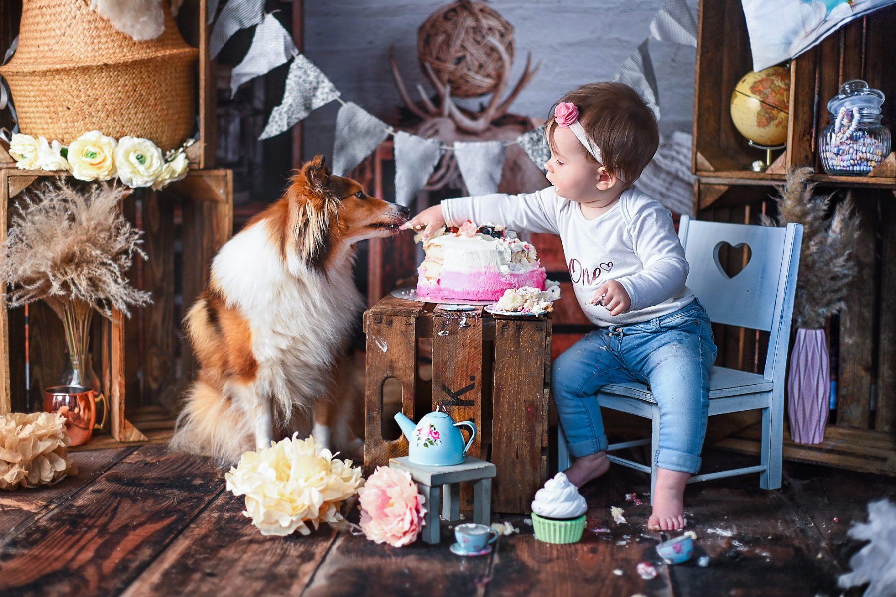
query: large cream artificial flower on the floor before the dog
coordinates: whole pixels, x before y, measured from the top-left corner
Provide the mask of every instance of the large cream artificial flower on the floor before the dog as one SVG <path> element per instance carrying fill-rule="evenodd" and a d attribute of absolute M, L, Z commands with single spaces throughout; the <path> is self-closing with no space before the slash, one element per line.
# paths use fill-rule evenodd
<path fill-rule="evenodd" d="M 243 514 L 263 535 L 306 535 L 306 523 L 317 529 L 342 521 L 342 502 L 364 484 L 360 467 L 334 458 L 312 437 L 297 439 L 297 433 L 246 452 L 224 478 L 234 495 L 246 496 Z"/>

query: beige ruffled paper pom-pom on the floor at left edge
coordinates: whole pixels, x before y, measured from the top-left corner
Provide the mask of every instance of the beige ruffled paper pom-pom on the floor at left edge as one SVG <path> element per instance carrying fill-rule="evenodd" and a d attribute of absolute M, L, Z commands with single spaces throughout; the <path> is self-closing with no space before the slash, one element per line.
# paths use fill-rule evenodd
<path fill-rule="evenodd" d="M 0 415 L 0 489 L 50 485 L 77 474 L 68 460 L 68 445 L 60 414 Z"/>

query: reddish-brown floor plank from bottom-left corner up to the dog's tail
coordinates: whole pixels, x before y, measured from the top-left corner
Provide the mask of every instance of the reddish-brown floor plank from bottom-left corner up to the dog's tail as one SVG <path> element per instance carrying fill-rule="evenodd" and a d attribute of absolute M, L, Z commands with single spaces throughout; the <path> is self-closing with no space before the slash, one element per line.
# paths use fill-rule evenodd
<path fill-rule="evenodd" d="M 208 459 L 139 448 L 0 550 L 0 594 L 118 593 L 221 490 Z"/>

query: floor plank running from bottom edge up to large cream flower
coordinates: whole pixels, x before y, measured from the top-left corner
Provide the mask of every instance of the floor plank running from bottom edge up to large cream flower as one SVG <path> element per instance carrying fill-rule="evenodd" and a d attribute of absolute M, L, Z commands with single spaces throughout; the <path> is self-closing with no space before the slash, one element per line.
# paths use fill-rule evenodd
<path fill-rule="evenodd" d="M 323 525 L 309 536 L 266 537 L 243 516 L 245 500 L 222 491 L 122 597 L 169 595 L 297 595 L 336 533 Z"/>

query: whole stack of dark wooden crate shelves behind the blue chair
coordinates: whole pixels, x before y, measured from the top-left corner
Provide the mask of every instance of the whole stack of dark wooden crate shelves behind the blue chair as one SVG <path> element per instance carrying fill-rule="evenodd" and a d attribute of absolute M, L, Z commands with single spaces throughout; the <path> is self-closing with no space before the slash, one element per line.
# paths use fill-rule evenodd
<path fill-rule="evenodd" d="M 820 446 L 801 446 L 785 430 L 784 457 L 823 465 L 896 474 L 896 173 L 887 166 L 868 176 L 824 174 L 816 143 L 829 124 L 828 100 L 840 84 L 864 79 L 883 90 L 883 123 L 896 127 L 896 7 L 849 23 L 821 44 L 790 61 L 788 149 L 765 172 L 749 170 L 762 151 L 750 148 L 731 122 L 728 98 L 752 69 L 744 13 L 739 0 L 703 0 L 700 6 L 694 93 L 694 211 L 702 219 L 758 224 L 771 211 L 773 186 L 789 167 L 812 166 L 820 192 L 849 191 L 862 217 L 856 255 L 859 272 L 848 309 L 827 324 L 839 367 L 836 414 Z M 893 159 L 892 156 L 890 158 Z M 748 260 L 743 252 L 721 256 L 729 275 Z M 767 334 L 743 328 L 715 329 L 717 364 L 756 371 Z M 745 425 L 717 445 L 758 451 L 756 428 Z"/>

